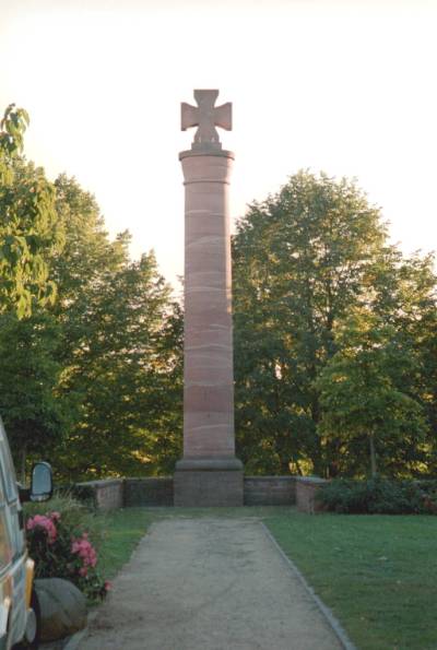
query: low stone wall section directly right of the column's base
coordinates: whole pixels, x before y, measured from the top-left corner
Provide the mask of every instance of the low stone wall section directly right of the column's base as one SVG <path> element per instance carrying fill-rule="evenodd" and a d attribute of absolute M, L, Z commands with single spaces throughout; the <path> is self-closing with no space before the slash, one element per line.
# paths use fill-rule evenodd
<path fill-rule="evenodd" d="M 296 503 L 294 476 L 245 476 L 245 506 L 292 506 Z"/>

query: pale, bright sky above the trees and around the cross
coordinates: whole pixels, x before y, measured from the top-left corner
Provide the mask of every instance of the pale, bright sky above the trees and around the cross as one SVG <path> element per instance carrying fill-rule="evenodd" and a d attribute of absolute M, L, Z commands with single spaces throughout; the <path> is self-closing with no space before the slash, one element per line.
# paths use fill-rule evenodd
<path fill-rule="evenodd" d="M 132 257 L 184 268 L 180 102 L 232 102 L 232 216 L 300 168 L 357 177 L 405 252 L 437 248 L 437 0 L 0 0 L 0 111 L 93 192 Z"/>

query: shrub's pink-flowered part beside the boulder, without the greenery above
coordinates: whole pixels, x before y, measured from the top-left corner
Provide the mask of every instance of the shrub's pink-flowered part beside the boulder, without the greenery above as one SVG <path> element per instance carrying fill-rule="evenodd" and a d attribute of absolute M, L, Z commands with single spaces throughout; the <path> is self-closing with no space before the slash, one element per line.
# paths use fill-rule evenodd
<path fill-rule="evenodd" d="M 97 552 L 88 534 L 69 524 L 59 512 L 34 515 L 26 521 L 27 546 L 36 578 L 71 580 L 91 600 L 110 589 L 97 570 Z"/>

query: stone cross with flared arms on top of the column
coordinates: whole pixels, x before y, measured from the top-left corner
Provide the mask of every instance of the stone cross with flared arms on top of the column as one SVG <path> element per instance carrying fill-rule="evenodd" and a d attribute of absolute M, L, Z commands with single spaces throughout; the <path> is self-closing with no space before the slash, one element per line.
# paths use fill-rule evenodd
<path fill-rule="evenodd" d="M 222 149 L 215 127 L 232 130 L 232 104 L 227 102 L 222 106 L 214 106 L 217 97 L 218 91 L 194 91 L 198 106 L 191 106 L 185 102 L 180 105 L 181 130 L 199 127 L 191 144 L 193 150 Z"/>

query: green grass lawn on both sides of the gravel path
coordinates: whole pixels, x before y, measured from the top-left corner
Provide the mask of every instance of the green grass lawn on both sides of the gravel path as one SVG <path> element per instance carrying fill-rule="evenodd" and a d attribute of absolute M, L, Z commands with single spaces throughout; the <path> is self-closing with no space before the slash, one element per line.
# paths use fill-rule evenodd
<path fill-rule="evenodd" d="M 299 515 L 292 508 L 129 508 L 104 518 L 105 577 L 154 521 L 257 517 L 361 650 L 437 649 L 437 518 Z M 315 649 L 316 650 L 316 649 Z"/>

